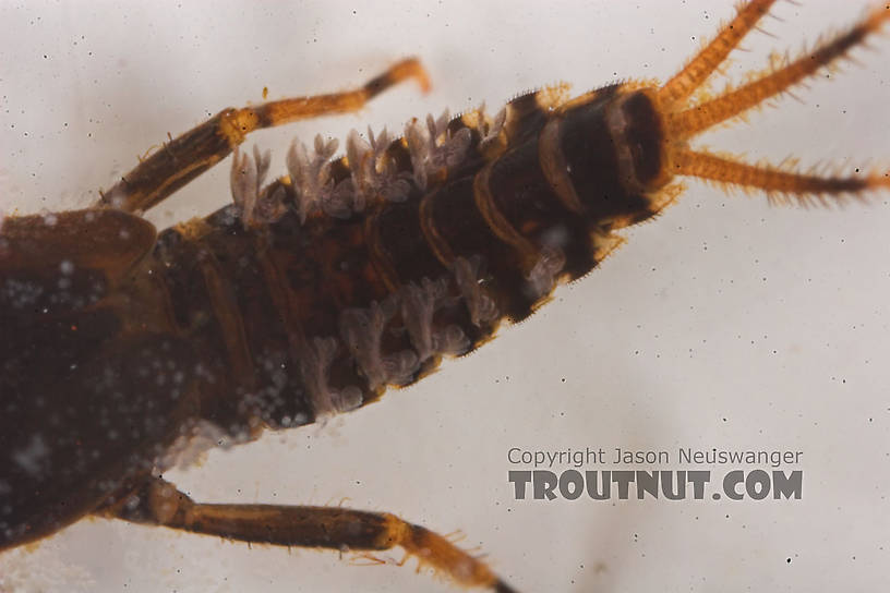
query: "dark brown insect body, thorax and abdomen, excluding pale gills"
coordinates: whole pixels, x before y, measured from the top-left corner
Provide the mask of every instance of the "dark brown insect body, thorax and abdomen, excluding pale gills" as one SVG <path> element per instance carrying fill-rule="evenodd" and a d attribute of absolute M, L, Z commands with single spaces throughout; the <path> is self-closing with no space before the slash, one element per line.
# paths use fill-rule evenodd
<path fill-rule="evenodd" d="M 441 353 L 428 352 L 397 379 L 374 380 L 342 337 L 345 312 L 387 308 L 380 355 L 417 352 L 410 313 L 400 307 L 404 287 L 441 282 L 447 288 L 433 331 L 459 328 L 466 352 L 550 293 L 553 285 L 529 283 L 534 253 L 563 255 L 564 279 L 589 271 L 616 220 L 650 214 L 647 197 L 620 179 L 611 147 L 604 113 L 618 93 L 605 88 L 562 116 L 562 150 L 584 217 L 542 172 L 540 132 L 552 119 L 530 94 L 510 104 L 507 142 L 491 148 L 496 158 L 486 161 L 470 130 L 461 164 L 435 184 L 412 184 L 407 199 L 380 201 L 345 219 L 317 213 L 301 223 L 291 208 L 252 228 L 229 206 L 156 241 L 146 222 L 109 210 L 10 220 L 0 243 L 0 324 L 14 337 L 0 346 L 0 476 L 12 492 L 0 489 L 0 547 L 113 503 L 201 420 L 246 440 L 264 427 L 344 411 L 337 401 L 324 409 L 306 387 L 304 359 L 316 339 L 337 342 L 322 379 L 332 392 L 358 387 L 361 403 L 438 364 Z M 635 97 L 626 110 L 641 122 L 633 133 L 647 182 L 659 171 L 661 131 L 647 97 Z M 458 118 L 448 128 L 467 125 Z M 388 153 L 411 172 L 405 141 Z M 478 204 L 486 162 L 494 213 Z M 346 161 L 334 164 L 335 181 L 348 174 Z M 498 237 L 502 220 L 534 251 Z M 83 253 L 70 252 L 72 244 Z M 473 320 L 455 258 L 472 262 L 494 304 L 490 315 Z M 58 289 L 60 281 L 71 288 Z"/>

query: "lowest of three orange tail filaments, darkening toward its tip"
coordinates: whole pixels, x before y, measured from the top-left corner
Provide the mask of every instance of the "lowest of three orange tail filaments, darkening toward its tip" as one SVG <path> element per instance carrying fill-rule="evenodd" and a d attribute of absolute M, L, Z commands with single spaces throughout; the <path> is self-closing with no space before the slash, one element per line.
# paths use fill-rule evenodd
<path fill-rule="evenodd" d="M 849 195 L 861 197 L 867 190 L 890 189 L 890 172 L 873 172 L 863 178 L 808 176 L 736 162 L 687 148 L 674 150 L 671 162 L 674 174 L 762 190 L 777 204 L 796 201 L 803 205 L 828 205 L 828 197 L 840 202 Z"/>

